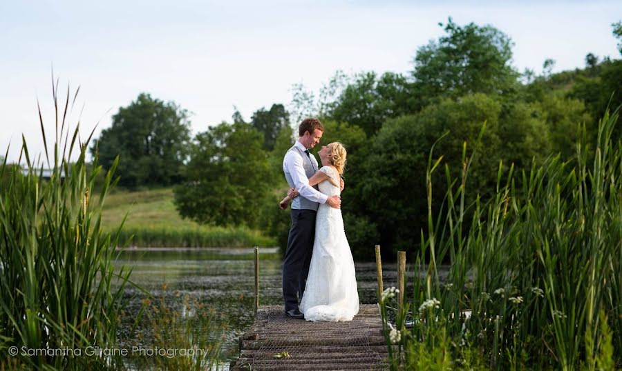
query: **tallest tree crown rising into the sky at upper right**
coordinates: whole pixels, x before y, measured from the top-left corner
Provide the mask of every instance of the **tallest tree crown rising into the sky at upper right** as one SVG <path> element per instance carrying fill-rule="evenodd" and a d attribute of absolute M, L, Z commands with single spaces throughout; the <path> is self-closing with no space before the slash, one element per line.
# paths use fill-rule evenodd
<path fill-rule="evenodd" d="M 510 66 L 511 39 L 492 26 L 458 26 L 451 18 L 446 35 L 417 50 L 415 93 L 420 108 L 440 98 L 465 94 L 507 94 L 516 90 L 518 72 Z"/>

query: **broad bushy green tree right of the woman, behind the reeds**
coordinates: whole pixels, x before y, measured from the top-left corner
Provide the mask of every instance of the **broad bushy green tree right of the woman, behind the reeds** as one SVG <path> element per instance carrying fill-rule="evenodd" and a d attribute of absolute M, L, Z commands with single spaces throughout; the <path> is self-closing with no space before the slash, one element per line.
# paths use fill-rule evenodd
<path fill-rule="evenodd" d="M 426 225 L 426 166 L 433 143 L 434 159 L 442 156 L 441 170 L 433 177 L 433 207 L 444 201 L 447 166 L 453 179 L 462 174 L 462 148 L 475 146 L 486 122 L 473 168 L 466 179 L 467 194 L 487 199 L 495 190 L 499 161 L 530 164 L 547 155 L 547 126 L 532 117 L 527 103 L 507 106 L 497 96 L 473 94 L 458 101 L 444 99 L 421 112 L 390 119 L 384 123 L 364 161 L 365 178 L 361 193 L 364 216 L 377 224 L 381 245 L 393 250 L 412 249 Z M 518 165 L 517 165 L 518 166 Z M 473 199 L 467 199 L 468 205 Z M 362 216 L 362 215 L 361 215 Z M 469 225 L 469 223 L 466 223 Z"/>

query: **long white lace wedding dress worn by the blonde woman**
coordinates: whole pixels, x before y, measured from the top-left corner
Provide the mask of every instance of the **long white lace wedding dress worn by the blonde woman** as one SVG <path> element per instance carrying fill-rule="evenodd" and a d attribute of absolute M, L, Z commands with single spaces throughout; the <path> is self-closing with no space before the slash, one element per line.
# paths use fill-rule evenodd
<path fill-rule="evenodd" d="M 339 184 L 333 168 L 324 166 L 320 171 Z M 328 180 L 319 183 L 319 191 L 329 197 L 341 193 Z M 307 321 L 351 321 L 359 312 L 354 260 L 341 210 L 326 203 L 317 210 L 311 265 L 299 308 Z"/>

